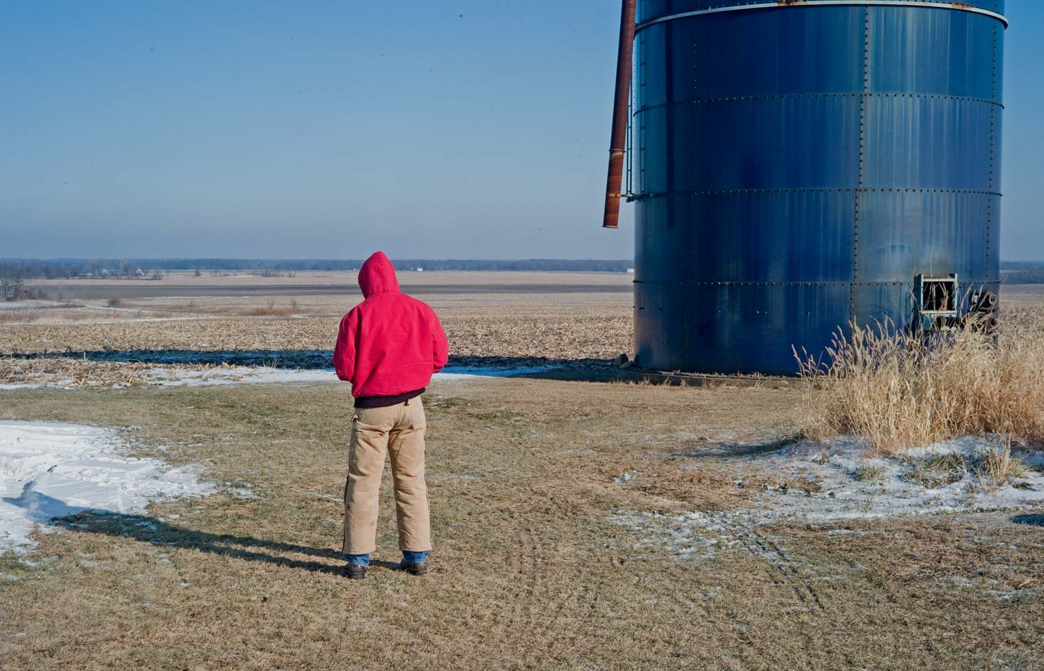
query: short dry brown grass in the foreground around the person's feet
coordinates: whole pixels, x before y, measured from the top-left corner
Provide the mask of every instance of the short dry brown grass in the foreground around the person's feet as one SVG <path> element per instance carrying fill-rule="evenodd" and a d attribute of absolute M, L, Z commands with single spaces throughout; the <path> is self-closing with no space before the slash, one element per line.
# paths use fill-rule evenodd
<path fill-rule="evenodd" d="M 3 669 L 1044 668 L 1044 528 L 1010 514 L 757 528 L 706 559 L 610 521 L 752 505 L 712 455 L 772 438 L 796 391 L 436 385 L 433 571 L 361 582 L 336 552 L 346 387 L 3 393 L 0 418 L 127 427 L 229 483 L 0 559 Z"/>

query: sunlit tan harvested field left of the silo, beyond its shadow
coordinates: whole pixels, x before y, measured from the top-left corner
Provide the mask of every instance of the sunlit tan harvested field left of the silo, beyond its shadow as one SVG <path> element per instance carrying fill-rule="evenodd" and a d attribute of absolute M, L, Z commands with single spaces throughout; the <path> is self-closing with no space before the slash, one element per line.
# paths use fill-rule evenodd
<path fill-rule="evenodd" d="M 312 273 L 316 274 L 316 273 Z M 323 273 L 335 282 L 354 273 Z M 459 293 L 411 292 L 440 314 L 453 354 L 553 358 L 612 358 L 632 349 L 631 278 L 611 273 L 425 272 L 430 286 L 458 287 Z M 361 299 L 357 290 L 330 295 L 294 292 L 299 281 L 279 279 L 279 295 L 150 296 L 78 301 L 77 307 L 9 311 L 0 322 L 0 353 L 67 350 L 329 350 L 340 317 Z M 100 281 L 99 281 L 100 282 Z M 253 285 L 271 278 L 183 278 L 109 283 L 116 289 L 140 284 L 187 283 L 197 291 L 236 282 Z M 489 294 L 476 285 L 499 286 Z M 594 285 L 606 291 L 580 291 Z M 90 287 L 92 281 L 53 281 L 48 287 Z M 109 286 L 109 285 L 106 285 Z M 181 285 L 170 285 L 181 286 Z M 537 288 L 532 288 L 537 287 Z M 620 291 L 620 289 L 624 289 Z M 68 305 L 68 304 L 63 304 Z M 18 314 L 18 313 L 23 314 Z M 27 313 L 27 314 L 26 314 Z"/>

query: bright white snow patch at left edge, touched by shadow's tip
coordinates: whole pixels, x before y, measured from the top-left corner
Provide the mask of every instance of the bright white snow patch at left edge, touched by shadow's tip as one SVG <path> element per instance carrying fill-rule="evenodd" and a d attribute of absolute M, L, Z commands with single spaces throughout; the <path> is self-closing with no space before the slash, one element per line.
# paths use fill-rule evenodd
<path fill-rule="evenodd" d="M 0 554 L 30 550 L 37 525 L 56 518 L 143 513 L 153 501 L 215 490 L 200 480 L 199 466 L 171 468 L 128 450 L 113 429 L 0 422 Z"/>

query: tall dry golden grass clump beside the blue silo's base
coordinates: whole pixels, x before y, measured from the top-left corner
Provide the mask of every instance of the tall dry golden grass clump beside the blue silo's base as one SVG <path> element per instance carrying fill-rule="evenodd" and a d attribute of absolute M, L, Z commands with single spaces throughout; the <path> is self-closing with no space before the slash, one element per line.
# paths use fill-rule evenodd
<path fill-rule="evenodd" d="M 885 322 L 838 332 L 823 360 L 799 357 L 809 437 L 855 435 L 894 452 L 966 435 L 1044 441 L 1044 310 L 1005 311 L 994 337 L 919 336 Z"/>

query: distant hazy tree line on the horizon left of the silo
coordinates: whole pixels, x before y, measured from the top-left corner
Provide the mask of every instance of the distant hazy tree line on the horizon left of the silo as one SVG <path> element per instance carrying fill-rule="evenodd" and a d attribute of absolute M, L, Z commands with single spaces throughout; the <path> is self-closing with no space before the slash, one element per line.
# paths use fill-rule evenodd
<path fill-rule="evenodd" d="M 25 279 L 146 278 L 159 279 L 170 270 L 191 270 L 198 277 L 210 273 L 257 272 L 265 277 L 306 270 L 357 270 L 362 259 L 13 259 L 4 263 L 18 267 Z M 565 270 L 625 272 L 632 260 L 525 259 L 395 259 L 403 270 Z"/>

